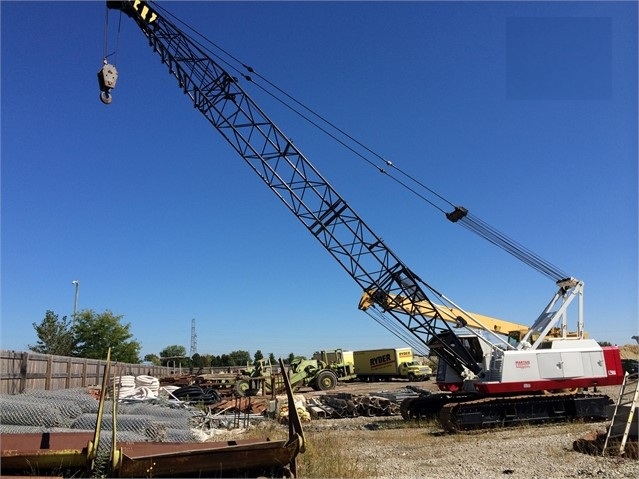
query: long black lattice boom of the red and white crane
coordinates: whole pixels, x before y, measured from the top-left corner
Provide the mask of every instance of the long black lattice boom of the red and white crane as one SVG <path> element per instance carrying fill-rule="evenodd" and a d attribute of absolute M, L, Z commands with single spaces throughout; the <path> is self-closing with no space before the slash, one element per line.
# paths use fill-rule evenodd
<path fill-rule="evenodd" d="M 430 302 L 424 284 L 353 211 L 299 149 L 253 102 L 217 62 L 146 2 L 109 1 L 109 8 L 130 16 L 160 55 L 182 91 L 222 134 L 363 291 L 375 291 L 392 303 L 392 297 Z M 427 286 L 427 285 L 426 285 Z M 428 287 L 428 286 L 427 286 Z M 381 299 L 381 298 L 380 298 Z M 401 322 L 421 343 L 452 332 L 436 314 L 432 318 L 385 312 Z M 437 308 L 433 305 L 433 311 Z M 463 350 L 446 343 L 444 349 Z M 452 352 L 452 351 L 451 351 Z M 463 354 L 463 353 L 462 353 Z M 470 354 L 462 362 L 478 371 Z M 461 371 L 460 371 L 461 372 Z"/>

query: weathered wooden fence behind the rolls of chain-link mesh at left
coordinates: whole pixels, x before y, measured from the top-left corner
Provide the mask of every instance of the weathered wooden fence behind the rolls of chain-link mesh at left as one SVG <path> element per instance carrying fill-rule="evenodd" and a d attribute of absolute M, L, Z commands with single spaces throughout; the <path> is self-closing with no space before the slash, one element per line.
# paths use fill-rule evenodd
<path fill-rule="evenodd" d="M 102 384 L 106 361 L 0 350 L 0 394 L 27 389 L 68 389 Z M 168 376 L 169 368 L 146 364 L 111 363 L 113 376 Z"/>

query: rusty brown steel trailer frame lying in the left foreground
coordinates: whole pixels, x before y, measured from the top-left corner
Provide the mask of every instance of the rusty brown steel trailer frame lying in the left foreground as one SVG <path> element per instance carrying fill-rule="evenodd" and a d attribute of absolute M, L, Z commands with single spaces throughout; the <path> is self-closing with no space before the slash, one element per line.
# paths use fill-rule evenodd
<path fill-rule="evenodd" d="M 287 440 L 266 438 L 226 442 L 119 442 L 111 448 L 111 475 L 117 477 L 294 477 L 296 457 L 304 452 L 304 433 L 288 378 Z M 98 421 L 99 423 L 99 421 Z M 0 473 L 84 475 L 97 449 L 95 432 L 3 434 Z"/>

